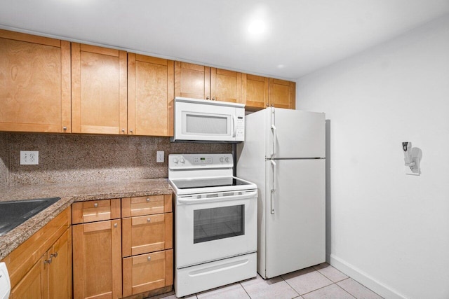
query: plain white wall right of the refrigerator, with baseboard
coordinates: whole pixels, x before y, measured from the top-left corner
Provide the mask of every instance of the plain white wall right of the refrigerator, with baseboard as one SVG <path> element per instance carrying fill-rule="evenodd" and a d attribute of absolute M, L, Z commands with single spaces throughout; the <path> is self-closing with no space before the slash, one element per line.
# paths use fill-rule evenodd
<path fill-rule="evenodd" d="M 300 78 L 296 106 L 330 120 L 330 263 L 386 298 L 449 298 L 449 15 Z"/>

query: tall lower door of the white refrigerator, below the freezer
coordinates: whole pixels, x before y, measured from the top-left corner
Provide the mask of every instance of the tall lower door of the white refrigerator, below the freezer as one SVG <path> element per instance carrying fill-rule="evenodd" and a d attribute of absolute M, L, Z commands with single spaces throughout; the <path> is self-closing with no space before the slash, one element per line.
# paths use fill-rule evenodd
<path fill-rule="evenodd" d="M 262 277 L 276 277 L 326 260 L 325 161 L 266 162 Z"/>

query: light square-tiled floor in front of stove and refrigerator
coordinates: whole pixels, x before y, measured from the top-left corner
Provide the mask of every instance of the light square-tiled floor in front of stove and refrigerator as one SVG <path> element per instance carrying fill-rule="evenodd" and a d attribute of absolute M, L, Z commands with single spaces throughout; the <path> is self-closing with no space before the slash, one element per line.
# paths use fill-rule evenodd
<path fill-rule="evenodd" d="M 174 292 L 152 299 L 176 299 Z M 264 280 L 257 274 L 213 290 L 196 293 L 186 299 L 382 299 L 328 263 Z"/>

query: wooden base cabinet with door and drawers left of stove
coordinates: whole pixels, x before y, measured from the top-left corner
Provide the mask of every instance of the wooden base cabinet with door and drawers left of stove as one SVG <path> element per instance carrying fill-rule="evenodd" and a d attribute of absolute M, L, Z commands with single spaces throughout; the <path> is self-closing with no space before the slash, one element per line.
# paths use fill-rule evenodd
<path fill-rule="evenodd" d="M 171 194 L 75 202 L 72 211 L 82 222 L 72 225 L 75 299 L 171 290 Z"/>

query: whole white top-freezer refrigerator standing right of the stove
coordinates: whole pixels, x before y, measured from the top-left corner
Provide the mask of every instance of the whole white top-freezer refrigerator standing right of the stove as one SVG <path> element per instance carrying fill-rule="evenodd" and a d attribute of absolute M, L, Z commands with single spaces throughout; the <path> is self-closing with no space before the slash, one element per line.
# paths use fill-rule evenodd
<path fill-rule="evenodd" d="M 326 260 L 324 113 L 267 108 L 246 116 L 237 174 L 257 184 L 257 272 L 265 279 Z"/>

